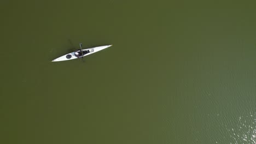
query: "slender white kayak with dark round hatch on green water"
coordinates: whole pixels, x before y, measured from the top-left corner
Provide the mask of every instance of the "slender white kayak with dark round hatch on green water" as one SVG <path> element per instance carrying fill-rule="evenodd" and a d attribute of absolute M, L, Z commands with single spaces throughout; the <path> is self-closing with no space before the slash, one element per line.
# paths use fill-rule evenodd
<path fill-rule="evenodd" d="M 85 56 L 91 55 L 92 53 L 101 51 L 103 49 L 107 49 L 109 46 L 112 46 L 112 45 L 97 46 L 97 47 L 92 47 L 90 49 L 84 49 L 82 51 L 81 50 L 74 51 L 74 52 L 68 53 L 64 56 L 61 56 L 59 58 L 56 58 L 51 62 L 67 61 L 67 60 L 71 60 L 71 59 L 75 59 L 75 58 L 85 57 Z M 77 52 L 82 52 L 82 55 L 77 55 Z"/>

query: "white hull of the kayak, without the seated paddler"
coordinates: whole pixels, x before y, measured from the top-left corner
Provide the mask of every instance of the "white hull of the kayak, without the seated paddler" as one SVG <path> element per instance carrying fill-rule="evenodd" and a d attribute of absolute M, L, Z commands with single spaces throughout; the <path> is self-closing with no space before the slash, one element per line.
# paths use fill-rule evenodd
<path fill-rule="evenodd" d="M 89 48 L 89 49 L 84 49 L 83 51 L 89 50 L 89 53 L 86 53 L 85 55 L 83 55 L 81 57 L 85 57 L 85 56 L 91 55 L 92 53 L 107 49 L 110 46 L 112 46 L 112 45 L 104 45 L 104 46 L 97 46 L 97 47 L 92 47 L 92 48 Z M 77 58 L 78 57 L 75 56 L 75 52 L 71 52 L 71 53 L 67 53 L 66 55 L 63 55 L 61 57 L 58 57 L 58 58 L 54 59 L 51 62 L 67 61 L 67 60 L 77 59 Z"/>

